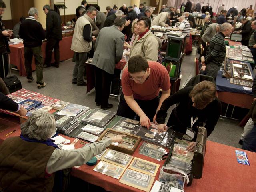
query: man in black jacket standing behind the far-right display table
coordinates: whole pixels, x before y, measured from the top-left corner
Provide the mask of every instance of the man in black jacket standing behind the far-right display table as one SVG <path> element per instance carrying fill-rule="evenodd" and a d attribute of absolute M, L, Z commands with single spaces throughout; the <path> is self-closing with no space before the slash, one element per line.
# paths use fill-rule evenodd
<path fill-rule="evenodd" d="M 243 18 L 241 22 L 243 25 L 240 28 L 235 29 L 235 31 L 237 31 L 238 34 L 242 34 L 242 45 L 248 46 L 252 31 L 251 22 L 247 20 L 247 18 Z"/>

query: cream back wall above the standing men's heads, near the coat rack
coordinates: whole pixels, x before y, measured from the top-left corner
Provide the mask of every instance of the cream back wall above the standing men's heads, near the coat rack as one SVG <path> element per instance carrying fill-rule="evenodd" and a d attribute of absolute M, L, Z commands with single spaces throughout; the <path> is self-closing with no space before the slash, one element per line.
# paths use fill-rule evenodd
<path fill-rule="evenodd" d="M 76 14 L 76 8 L 81 5 L 82 0 L 66 0 L 66 15 Z M 54 4 L 57 2 L 64 2 L 63 0 L 54 0 Z M 87 2 L 97 2 L 97 0 L 87 0 Z M 130 6 L 131 0 L 98 0 L 98 5 L 100 6 L 101 12 L 106 12 L 106 7 L 113 7 L 114 4 L 117 4 L 118 8 L 122 6 L 122 4 L 126 4 Z M 60 14 L 64 15 L 64 9 L 60 9 Z"/>

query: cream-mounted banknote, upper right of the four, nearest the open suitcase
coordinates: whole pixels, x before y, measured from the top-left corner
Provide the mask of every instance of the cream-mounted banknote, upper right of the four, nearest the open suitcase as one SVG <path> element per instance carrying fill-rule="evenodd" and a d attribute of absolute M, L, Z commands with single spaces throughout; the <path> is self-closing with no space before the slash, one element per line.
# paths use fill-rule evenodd
<path fill-rule="evenodd" d="M 151 176 L 156 176 L 159 166 L 159 164 L 134 157 L 129 168 Z"/>

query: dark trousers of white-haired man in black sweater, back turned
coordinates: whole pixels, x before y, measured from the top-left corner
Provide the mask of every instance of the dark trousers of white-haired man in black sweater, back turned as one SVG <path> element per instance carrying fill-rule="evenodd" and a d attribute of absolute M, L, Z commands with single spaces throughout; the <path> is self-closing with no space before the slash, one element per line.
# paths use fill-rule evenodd
<path fill-rule="evenodd" d="M 33 55 L 36 64 L 36 83 L 43 84 L 43 56 L 40 47 L 24 47 L 25 68 L 27 79 L 33 79 L 32 76 L 32 59 Z"/>

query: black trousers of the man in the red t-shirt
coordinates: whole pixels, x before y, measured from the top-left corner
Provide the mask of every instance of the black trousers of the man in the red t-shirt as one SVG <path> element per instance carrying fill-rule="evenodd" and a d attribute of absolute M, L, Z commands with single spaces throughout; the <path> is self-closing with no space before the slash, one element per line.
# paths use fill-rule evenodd
<path fill-rule="evenodd" d="M 138 99 L 135 99 L 135 101 L 138 103 L 138 105 L 140 106 L 142 111 L 146 114 L 146 116 L 148 116 L 148 118 L 150 119 L 150 122 L 153 122 L 153 118 L 156 114 L 156 109 L 159 104 L 159 96 L 155 97 L 152 100 L 148 100 L 148 101 L 138 100 Z M 135 112 L 126 103 L 126 101 L 124 99 L 124 94 L 122 94 L 120 96 L 120 101 L 118 104 L 116 114 L 119 116 L 122 116 L 122 117 L 129 118 L 129 119 L 133 119 L 134 116 L 136 115 Z M 137 115 L 136 120 L 139 121 L 140 116 Z"/>

